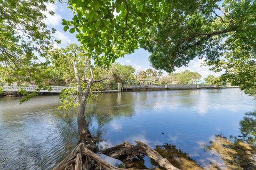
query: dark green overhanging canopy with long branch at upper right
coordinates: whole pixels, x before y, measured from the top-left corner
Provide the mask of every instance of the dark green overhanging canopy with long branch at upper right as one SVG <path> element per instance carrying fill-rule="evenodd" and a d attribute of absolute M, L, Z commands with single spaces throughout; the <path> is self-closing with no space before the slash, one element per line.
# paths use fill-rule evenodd
<path fill-rule="evenodd" d="M 150 28 L 142 46 L 156 69 L 173 72 L 195 57 L 247 94 L 255 95 L 256 1 L 189 1 L 173 4 Z"/>

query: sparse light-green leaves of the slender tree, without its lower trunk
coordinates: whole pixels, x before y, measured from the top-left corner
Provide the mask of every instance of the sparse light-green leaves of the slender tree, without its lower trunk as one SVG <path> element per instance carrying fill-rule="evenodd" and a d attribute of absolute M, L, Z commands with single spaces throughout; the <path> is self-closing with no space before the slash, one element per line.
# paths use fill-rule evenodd
<path fill-rule="evenodd" d="M 80 97 L 86 90 L 87 79 L 92 76 L 90 68 L 93 71 L 95 80 L 101 79 L 107 73 L 102 67 L 93 66 L 89 60 L 88 53 L 76 44 L 70 44 L 61 49 L 51 49 L 47 58 L 52 63 L 51 68 L 70 87 L 62 90 L 59 96 L 62 103 L 59 108 L 66 110 L 79 106 Z M 79 94 L 79 87 L 81 87 L 81 94 Z M 92 94 L 95 89 L 100 89 L 100 83 L 94 84 L 90 88 L 89 100 L 86 100 L 87 103 L 94 101 L 95 97 L 97 97 L 97 95 Z"/>

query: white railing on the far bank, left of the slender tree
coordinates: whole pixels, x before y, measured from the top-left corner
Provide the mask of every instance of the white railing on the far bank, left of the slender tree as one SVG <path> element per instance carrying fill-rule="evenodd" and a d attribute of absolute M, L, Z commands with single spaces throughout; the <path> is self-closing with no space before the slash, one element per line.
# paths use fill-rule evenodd
<path fill-rule="evenodd" d="M 33 92 L 33 91 L 36 91 L 37 90 L 37 86 L 36 85 L 32 85 L 32 84 L 29 84 L 27 86 L 23 86 L 23 87 L 20 87 L 20 86 L 17 86 L 16 84 L 11 84 L 10 86 L 7 85 L 7 84 L 4 84 L 3 86 L 3 91 L 19 91 L 21 89 L 23 90 L 26 90 L 28 92 Z M 63 89 L 67 89 L 67 88 L 70 88 L 70 87 L 65 87 L 65 86 L 51 86 L 51 89 L 50 90 L 44 90 L 44 89 L 41 89 L 40 92 L 55 92 L 55 93 L 60 93 L 61 90 Z"/>

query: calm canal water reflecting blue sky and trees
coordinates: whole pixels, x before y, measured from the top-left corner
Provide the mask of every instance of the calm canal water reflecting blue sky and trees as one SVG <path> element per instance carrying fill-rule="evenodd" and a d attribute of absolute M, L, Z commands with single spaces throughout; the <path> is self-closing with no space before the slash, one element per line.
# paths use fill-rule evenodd
<path fill-rule="evenodd" d="M 58 96 L 23 104 L 0 98 L 0 169 L 51 169 L 76 146 L 76 109 L 66 112 L 59 105 Z M 86 119 L 100 148 L 138 140 L 182 169 L 231 169 L 255 165 L 246 162 L 249 156 L 255 160 L 255 111 L 253 97 L 238 89 L 122 92 L 100 95 L 88 105 Z M 245 148 L 242 156 L 236 147 Z"/>

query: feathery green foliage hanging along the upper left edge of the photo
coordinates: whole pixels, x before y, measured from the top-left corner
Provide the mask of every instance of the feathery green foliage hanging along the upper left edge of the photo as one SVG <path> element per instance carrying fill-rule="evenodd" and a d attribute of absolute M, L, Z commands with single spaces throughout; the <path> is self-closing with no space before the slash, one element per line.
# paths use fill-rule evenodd
<path fill-rule="evenodd" d="M 48 29 L 44 23 L 43 12 L 47 11 L 45 3 L 52 0 L 1 1 L 0 2 L 0 77 L 3 83 L 37 84 L 37 88 L 47 89 L 50 77 L 48 62 L 40 62 L 54 38 L 54 29 Z M 50 14 L 54 14 L 49 11 Z M 57 41 L 57 40 L 55 40 Z M 57 41 L 58 43 L 58 41 Z M 36 54 L 36 55 L 35 55 Z M 25 95 L 21 101 L 36 96 L 36 92 Z"/>

